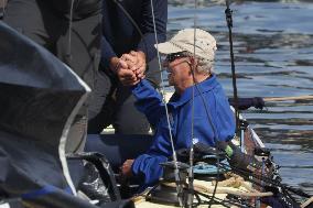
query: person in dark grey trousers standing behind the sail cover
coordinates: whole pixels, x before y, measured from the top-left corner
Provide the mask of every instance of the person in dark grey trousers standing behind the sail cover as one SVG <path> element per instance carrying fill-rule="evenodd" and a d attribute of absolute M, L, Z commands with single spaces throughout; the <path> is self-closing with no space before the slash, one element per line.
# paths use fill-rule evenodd
<path fill-rule="evenodd" d="M 100 61 L 101 3 L 101 0 L 10 0 L 3 21 L 47 48 L 94 89 Z M 87 107 L 85 103 L 79 110 L 69 130 L 67 152 L 84 147 Z"/>

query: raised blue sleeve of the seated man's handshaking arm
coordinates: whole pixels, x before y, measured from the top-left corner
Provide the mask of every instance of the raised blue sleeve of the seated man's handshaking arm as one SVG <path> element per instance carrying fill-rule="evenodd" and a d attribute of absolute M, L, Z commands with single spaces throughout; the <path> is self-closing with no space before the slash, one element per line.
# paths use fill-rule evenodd
<path fill-rule="evenodd" d="M 137 98 L 136 107 L 145 114 L 151 125 L 155 125 L 165 113 L 165 107 L 161 95 L 147 79 L 132 87 L 132 94 Z"/>

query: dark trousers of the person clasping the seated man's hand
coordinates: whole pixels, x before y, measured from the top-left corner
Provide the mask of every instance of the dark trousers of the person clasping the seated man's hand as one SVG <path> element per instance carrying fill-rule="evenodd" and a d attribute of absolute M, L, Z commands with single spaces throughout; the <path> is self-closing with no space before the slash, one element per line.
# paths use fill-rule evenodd
<path fill-rule="evenodd" d="M 147 79 L 154 87 L 160 84 L 156 58 L 149 63 Z M 105 69 L 99 70 L 94 95 L 93 107 L 89 108 L 88 133 L 98 134 L 110 124 L 118 134 L 149 133 L 150 124 L 145 116 L 136 109 L 136 98 L 129 87 L 119 84 Z"/>

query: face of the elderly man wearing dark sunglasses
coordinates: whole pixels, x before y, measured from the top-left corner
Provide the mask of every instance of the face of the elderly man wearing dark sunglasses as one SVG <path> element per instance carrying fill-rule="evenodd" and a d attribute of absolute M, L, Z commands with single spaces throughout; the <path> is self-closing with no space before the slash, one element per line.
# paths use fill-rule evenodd
<path fill-rule="evenodd" d="M 191 78 L 190 61 L 183 53 L 169 54 L 164 66 L 168 67 L 170 86 L 180 87 Z"/>

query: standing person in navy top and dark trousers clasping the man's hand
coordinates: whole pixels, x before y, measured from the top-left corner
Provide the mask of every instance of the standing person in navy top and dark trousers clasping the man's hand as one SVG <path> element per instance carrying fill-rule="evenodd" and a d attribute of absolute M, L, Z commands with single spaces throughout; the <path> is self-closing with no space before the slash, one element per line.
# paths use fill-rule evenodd
<path fill-rule="evenodd" d="M 166 37 L 168 1 L 154 0 L 156 36 L 159 42 Z M 100 133 L 104 128 L 114 124 L 116 133 L 147 134 L 149 122 L 144 114 L 134 108 L 134 97 L 129 87 L 132 80 L 147 79 L 155 87 L 160 83 L 160 73 L 152 21 L 150 0 L 106 0 L 102 10 L 101 63 L 95 87 L 95 103 L 89 110 L 88 133 Z M 129 58 L 137 65 L 122 68 L 120 58 Z M 106 99 L 104 106 L 100 101 Z"/>

